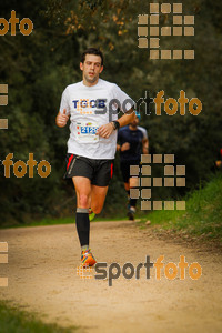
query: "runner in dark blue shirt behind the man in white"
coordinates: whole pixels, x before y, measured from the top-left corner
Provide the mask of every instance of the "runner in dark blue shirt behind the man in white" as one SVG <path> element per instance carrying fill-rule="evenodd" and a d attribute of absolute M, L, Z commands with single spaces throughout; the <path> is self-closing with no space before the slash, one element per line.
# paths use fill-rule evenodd
<path fill-rule="evenodd" d="M 124 181 L 124 189 L 128 193 L 129 220 L 134 220 L 137 199 L 130 199 L 130 188 L 135 186 L 134 179 L 130 178 L 130 165 L 140 165 L 141 153 L 148 154 L 149 141 L 148 132 L 144 128 L 138 125 L 140 114 L 127 127 L 118 132 L 117 150 L 120 151 L 120 168 Z"/>

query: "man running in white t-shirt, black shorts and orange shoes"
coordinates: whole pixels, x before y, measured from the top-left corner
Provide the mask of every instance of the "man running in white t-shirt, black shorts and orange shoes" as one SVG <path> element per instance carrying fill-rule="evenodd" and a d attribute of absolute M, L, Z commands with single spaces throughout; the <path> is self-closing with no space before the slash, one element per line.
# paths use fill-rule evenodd
<path fill-rule="evenodd" d="M 117 129 L 132 122 L 135 115 L 129 95 L 99 78 L 103 70 L 100 50 L 85 50 L 80 69 L 83 80 L 63 91 L 56 123 L 63 128 L 70 117 L 65 178 L 72 178 L 77 192 L 75 224 L 82 265 L 92 266 L 95 260 L 89 249 L 89 208 L 95 214 L 101 212 L 113 172 Z M 131 103 L 125 103 L 127 99 Z M 118 107 L 124 112 L 119 119 Z"/>

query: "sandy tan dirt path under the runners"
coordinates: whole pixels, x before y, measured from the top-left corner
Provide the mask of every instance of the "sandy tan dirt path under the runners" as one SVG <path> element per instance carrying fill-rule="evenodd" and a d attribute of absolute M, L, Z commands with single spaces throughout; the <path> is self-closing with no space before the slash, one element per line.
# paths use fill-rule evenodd
<path fill-rule="evenodd" d="M 0 299 L 13 300 L 28 310 L 46 314 L 44 321 L 60 325 L 80 325 L 81 332 L 221 332 L 221 254 L 190 249 L 157 240 L 134 222 L 91 224 L 91 248 L 99 262 L 125 262 L 137 266 L 163 254 L 164 264 L 178 264 L 185 255 L 189 264 L 199 262 L 202 276 L 194 281 L 180 276 L 170 281 L 161 270 L 157 281 L 141 269 L 140 280 L 113 281 L 81 279 L 75 273 L 80 248 L 74 225 L 37 226 L 0 231 L 0 241 L 9 243 L 9 264 L 0 265 L 0 275 L 9 286 L 0 287 Z M 94 274 L 94 273 L 93 273 Z"/>

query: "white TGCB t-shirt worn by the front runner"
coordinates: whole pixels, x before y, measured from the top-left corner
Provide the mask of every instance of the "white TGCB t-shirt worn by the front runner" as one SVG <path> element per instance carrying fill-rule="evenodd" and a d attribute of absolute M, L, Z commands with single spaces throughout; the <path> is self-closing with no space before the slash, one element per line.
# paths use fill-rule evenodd
<path fill-rule="evenodd" d="M 133 104 L 117 84 L 102 79 L 92 87 L 84 85 L 83 81 L 68 85 L 60 104 L 60 112 L 65 109 L 71 121 L 68 153 L 95 160 L 114 159 L 117 131 L 108 139 L 95 132 L 100 125 L 118 119 L 118 107 L 125 112 Z"/>

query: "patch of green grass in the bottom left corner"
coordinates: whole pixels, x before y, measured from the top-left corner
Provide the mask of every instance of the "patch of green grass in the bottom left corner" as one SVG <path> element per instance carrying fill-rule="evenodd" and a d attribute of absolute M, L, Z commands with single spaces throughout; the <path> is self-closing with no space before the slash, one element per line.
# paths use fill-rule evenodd
<path fill-rule="evenodd" d="M 77 329 L 63 329 L 57 324 L 44 324 L 34 314 L 17 310 L 8 302 L 0 301 L 1 333 L 72 333 Z"/>

